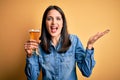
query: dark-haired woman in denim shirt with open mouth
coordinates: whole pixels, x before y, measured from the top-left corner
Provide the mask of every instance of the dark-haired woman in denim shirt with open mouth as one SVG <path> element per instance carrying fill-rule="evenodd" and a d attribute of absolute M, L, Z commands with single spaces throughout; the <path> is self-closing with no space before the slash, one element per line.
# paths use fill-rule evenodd
<path fill-rule="evenodd" d="M 84 50 L 79 38 L 68 33 L 62 9 L 49 6 L 43 15 L 40 43 L 30 40 L 24 45 L 27 79 L 37 80 L 42 69 L 43 80 L 77 80 L 76 63 L 82 75 L 89 77 L 95 65 L 93 44 L 108 32 L 90 37 Z"/>

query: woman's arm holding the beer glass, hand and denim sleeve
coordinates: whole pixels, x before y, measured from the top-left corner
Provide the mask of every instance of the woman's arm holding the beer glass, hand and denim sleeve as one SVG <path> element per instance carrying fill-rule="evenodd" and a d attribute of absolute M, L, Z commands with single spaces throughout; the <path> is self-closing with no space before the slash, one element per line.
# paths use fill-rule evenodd
<path fill-rule="evenodd" d="M 27 41 L 24 45 L 26 51 L 26 67 L 25 74 L 27 80 L 37 80 L 40 73 L 40 65 L 38 63 L 39 56 L 36 55 L 35 49 L 38 49 L 38 43 L 35 40 Z"/>

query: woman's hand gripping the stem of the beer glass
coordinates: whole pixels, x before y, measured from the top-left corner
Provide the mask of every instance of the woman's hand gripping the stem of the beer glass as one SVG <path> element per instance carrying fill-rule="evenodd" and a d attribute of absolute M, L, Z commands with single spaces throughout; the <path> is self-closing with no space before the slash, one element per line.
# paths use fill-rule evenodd
<path fill-rule="evenodd" d="M 39 42 L 36 40 L 29 40 L 24 44 L 24 49 L 28 57 L 32 55 L 33 50 L 38 49 L 38 44 Z"/>

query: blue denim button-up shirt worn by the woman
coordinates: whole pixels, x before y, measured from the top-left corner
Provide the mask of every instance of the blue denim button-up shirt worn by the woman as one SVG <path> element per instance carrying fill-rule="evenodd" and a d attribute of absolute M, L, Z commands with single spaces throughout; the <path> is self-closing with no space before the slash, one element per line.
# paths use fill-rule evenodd
<path fill-rule="evenodd" d="M 58 53 L 61 41 L 50 46 L 50 54 L 39 45 L 39 55 L 35 52 L 26 59 L 25 74 L 27 80 L 37 80 L 42 69 L 42 80 L 77 80 L 76 63 L 82 75 L 89 77 L 95 65 L 94 49 L 84 50 L 76 35 L 70 35 L 71 46 L 65 53 Z"/>

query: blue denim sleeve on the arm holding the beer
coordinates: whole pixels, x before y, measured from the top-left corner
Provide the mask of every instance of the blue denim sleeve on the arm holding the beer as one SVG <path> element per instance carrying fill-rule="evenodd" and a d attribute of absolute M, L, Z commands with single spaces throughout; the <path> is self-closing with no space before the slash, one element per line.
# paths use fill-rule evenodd
<path fill-rule="evenodd" d="M 33 53 L 31 57 L 26 58 L 25 74 L 27 80 L 38 80 L 39 73 L 40 67 L 38 63 L 38 55 Z"/>

